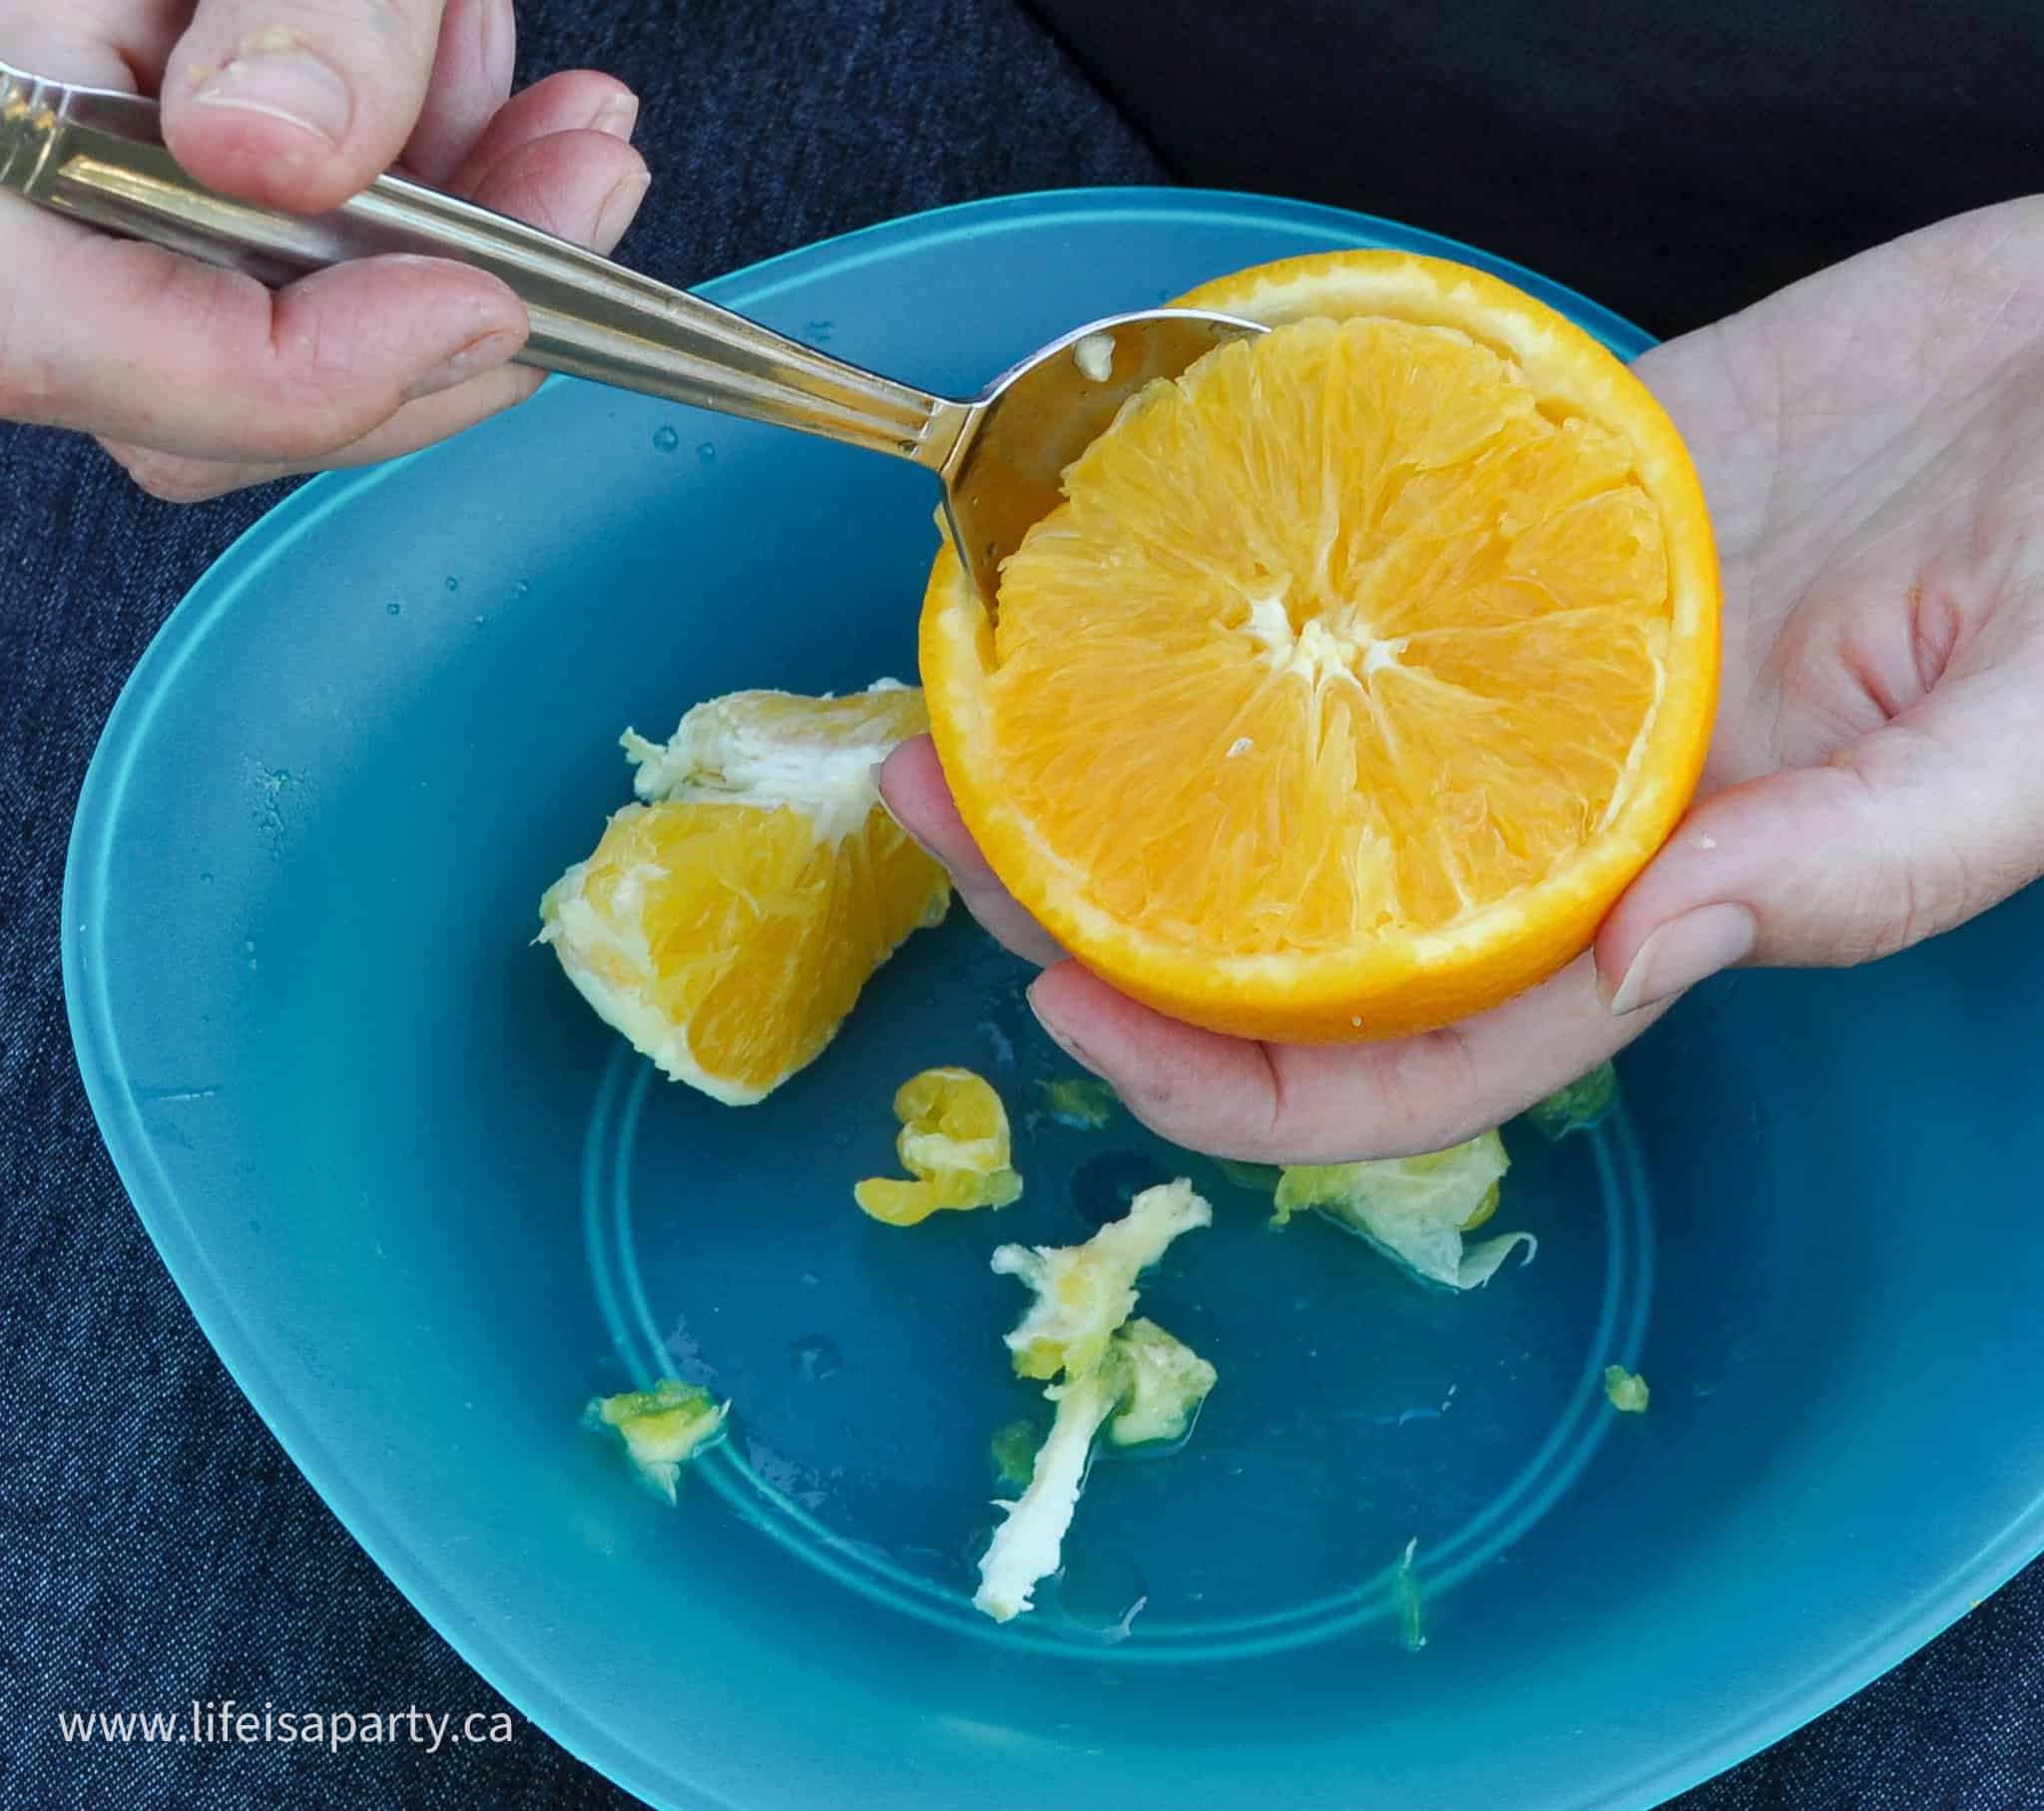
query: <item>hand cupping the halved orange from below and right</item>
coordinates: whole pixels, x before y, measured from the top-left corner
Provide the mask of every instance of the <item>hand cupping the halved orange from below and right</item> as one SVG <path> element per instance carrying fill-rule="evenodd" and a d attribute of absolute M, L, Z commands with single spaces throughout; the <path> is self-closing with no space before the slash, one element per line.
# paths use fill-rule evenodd
<path fill-rule="evenodd" d="M 1500 1124 L 1733 965 L 1848 965 L 2044 873 L 2044 198 L 1966 215 L 1674 339 L 1725 570 L 1703 789 L 1596 946 L 1466 1024 L 1259 1044 L 1116 993 L 1000 887 L 928 740 L 883 793 L 1047 971 L 1044 1028 L 1163 1136 L 1347 1161 Z"/>

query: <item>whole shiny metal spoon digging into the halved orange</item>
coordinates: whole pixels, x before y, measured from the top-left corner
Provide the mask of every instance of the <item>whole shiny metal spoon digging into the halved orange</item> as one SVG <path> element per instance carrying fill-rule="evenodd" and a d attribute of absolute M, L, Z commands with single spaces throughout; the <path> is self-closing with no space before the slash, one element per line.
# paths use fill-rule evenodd
<path fill-rule="evenodd" d="M 1053 339 L 977 397 L 934 397 L 828 358 L 685 290 L 403 176 L 303 217 L 202 188 L 164 149 L 157 104 L 0 63 L 0 188 L 78 221 L 282 286 L 380 251 L 456 258 L 525 303 L 519 362 L 799 427 L 938 474 L 953 540 L 993 611 L 1000 564 L 1057 503 L 1059 476 L 1153 378 L 1261 333 L 1183 309 Z"/>

